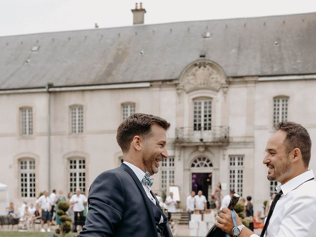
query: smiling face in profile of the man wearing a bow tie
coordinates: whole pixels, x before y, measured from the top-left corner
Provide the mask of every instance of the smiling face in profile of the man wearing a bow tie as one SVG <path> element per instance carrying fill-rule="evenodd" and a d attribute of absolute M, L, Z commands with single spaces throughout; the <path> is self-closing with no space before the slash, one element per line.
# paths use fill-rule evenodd
<path fill-rule="evenodd" d="M 150 175 L 158 173 L 159 163 L 163 158 L 168 158 L 166 150 L 166 131 L 163 127 L 153 124 L 151 132 L 145 138 L 142 162 Z"/>

